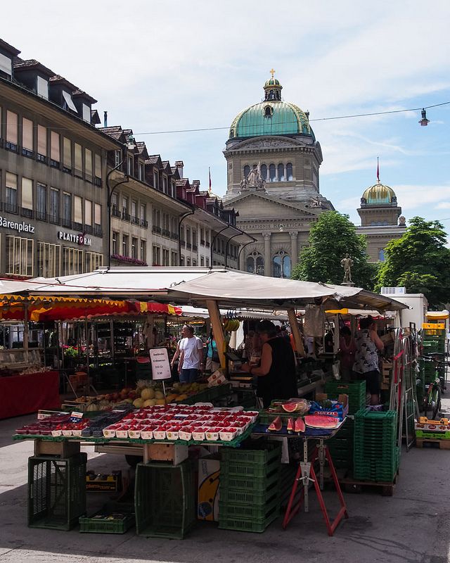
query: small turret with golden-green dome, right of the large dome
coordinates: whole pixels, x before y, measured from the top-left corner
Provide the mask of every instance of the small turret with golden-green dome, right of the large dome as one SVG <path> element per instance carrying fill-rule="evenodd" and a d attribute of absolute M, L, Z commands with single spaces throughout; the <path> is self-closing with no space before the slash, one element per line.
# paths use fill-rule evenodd
<path fill-rule="evenodd" d="M 401 215 L 394 190 L 378 179 L 376 184 L 364 190 L 358 213 L 361 227 L 357 227 L 357 232 L 367 237 L 371 262 L 384 262 L 387 243 L 398 239 L 406 229 L 406 220 Z"/>

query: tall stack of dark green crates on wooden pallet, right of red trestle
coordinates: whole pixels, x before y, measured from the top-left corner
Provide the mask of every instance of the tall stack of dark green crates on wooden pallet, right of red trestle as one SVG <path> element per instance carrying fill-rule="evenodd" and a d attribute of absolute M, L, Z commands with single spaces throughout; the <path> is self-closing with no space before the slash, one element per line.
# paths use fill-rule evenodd
<path fill-rule="evenodd" d="M 354 479 L 392 483 L 398 468 L 397 412 L 394 410 L 356 412 Z"/>

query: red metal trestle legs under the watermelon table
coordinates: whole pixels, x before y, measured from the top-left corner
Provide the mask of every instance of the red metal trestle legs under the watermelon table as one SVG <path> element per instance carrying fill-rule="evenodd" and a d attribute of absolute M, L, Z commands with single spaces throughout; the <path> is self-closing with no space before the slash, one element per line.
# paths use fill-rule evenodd
<path fill-rule="evenodd" d="M 333 536 L 333 533 L 335 532 L 335 529 L 338 527 L 342 518 L 348 518 L 349 515 L 347 512 L 347 506 L 345 505 L 344 497 L 342 495 L 342 491 L 340 489 L 338 476 L 336 475 L 336 470 L 330 455 L 330 451 L 328 450 L 326 445 L 323 445 L 322 447 L 325 450 L 325 456 L 326 459 L 328 460 L 328 464 L 330 465 L 331 476 L 333 477 L 333 482 L 335 483 L 336 492 L 338 493 L 338 498 L 340 502 L 340 510 L 333 521 L 330 521 L 330 517 L 328 516 L 328 510 L 326 509 L 325 501 L 323 500 L 323 495 L 321 488 L 319 486 L 319 481 L 317 479 L 316 472 L 314 471 L 314 462 L 316 462 L 316 460 L 319 459 L 319 448 L 317 446 L 314 448 L 314 451 L 312 453 L 311 467 L 309 469 L 309 474 L 311 476 L 312 481 L 314 481 L 314 488 L 316 490 L 317 498 L 319 499 L 319 505 L 321 507 L 323 519 L 325 520 L 328 536 Z M 290 493 L 288 507 L 286 508 L 285 516 L 283 519 L 283 529 L 286 529 L 289 522 L 293 519 L 293 517 L 295 517 L 295 514 L 297 514 L 297 512 L 300 510 L 300 507 L 302 506 L 302 502 L 304 499 L 304 486 L 302 487 L 302 491 L 300 492 L 299 500 L 294 504 L 295 495 L 297 494 L 298 483 L 300 481 L 302 481 L 302 467 L 299 464 L 297 473 L 295 474 L 293 488 Z M 308 486 L 308 484 L 306 486 Z"/>

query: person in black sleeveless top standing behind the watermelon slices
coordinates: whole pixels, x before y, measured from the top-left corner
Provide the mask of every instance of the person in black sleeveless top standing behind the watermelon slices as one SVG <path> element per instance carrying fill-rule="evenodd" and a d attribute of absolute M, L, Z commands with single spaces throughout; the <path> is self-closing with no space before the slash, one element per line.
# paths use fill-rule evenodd
<path fill-rule="evenodd" d="M 250 362 L 242 369 L 257 376 L 257 396 L 264 408 L 274 399 L 290 399 L 298 396 L 295 377 L 295 358 L 290 343 L 278 338 L 276 327 L 271 321 L 257 325 L 257 334 L 262 341 L 259 366 Z"/>

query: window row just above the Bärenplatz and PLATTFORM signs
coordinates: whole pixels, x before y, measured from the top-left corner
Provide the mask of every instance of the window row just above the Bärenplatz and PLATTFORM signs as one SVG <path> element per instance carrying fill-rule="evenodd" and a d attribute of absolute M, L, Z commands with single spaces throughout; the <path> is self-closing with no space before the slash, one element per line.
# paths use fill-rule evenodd
<path fill-rule="evenodd" d="M 6 172 L 3 210 L 101 236 L 101 204 Z"/>

